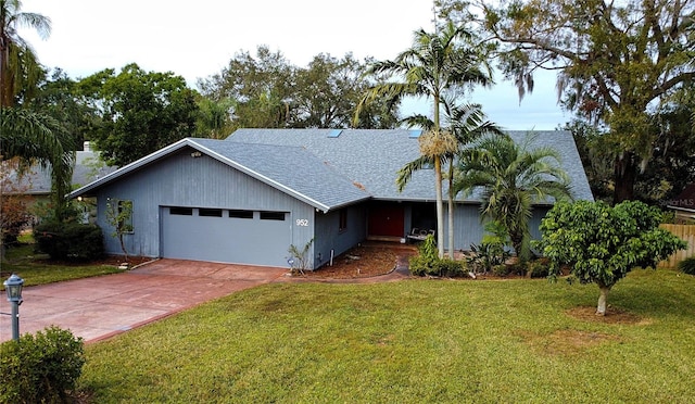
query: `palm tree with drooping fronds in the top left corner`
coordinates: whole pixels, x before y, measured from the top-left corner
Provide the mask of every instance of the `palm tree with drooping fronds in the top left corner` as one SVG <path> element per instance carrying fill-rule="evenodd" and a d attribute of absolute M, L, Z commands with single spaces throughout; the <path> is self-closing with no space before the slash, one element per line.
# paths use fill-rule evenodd
<path fill-rule="evenodd" d="M 17 28 L 35 28 L 41 38 L 51 33 L 51 20 L 20 11 L 20 0 L 0 0 L 0 106 L 14 105 L 21 92 L 31 92 L 43 76 L 31 47 Z"/>

